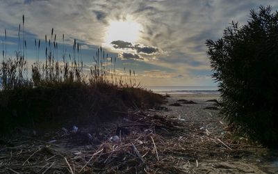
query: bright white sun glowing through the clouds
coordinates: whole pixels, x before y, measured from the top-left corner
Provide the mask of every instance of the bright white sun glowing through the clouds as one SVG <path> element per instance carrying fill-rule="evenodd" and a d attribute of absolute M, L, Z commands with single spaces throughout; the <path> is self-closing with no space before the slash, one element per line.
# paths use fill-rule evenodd
<path fill-rule="evenodd" d="M 105 44 L 111 45 L 115 40 L 138 42 L 141 29 L 141 24 L 132 19 L 111 20 L 106 30 Z"/>

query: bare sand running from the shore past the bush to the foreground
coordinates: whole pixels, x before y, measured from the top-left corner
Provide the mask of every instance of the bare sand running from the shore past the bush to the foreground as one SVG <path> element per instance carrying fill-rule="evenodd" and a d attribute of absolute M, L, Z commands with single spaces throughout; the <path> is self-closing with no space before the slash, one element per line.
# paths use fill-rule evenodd
<path fill-rule="evenodd" d="M 190 171 L 196 173 L 278 173 L 277 151 L 257 147 L 253 144 L 248 145 L 246 142 L 242 146 L 240 143 L 232 145 L 234 144 L 233 134 L 227 131 L 227 124 L 220 117 L 219 110 L 205 109 L 215 104 L 215 102 L 206 102 L 207 100 L 218 100 L 219 98 L 220 95 L 215 94 L 174 94 L 167 98 L 167 104 L 164 105 L 169 111 L 158 112 L 163 116 L 177 116 L 188 124 L 194 124 L 195 129 L 192 129 L 192 132 L 188 132 L 188 134 L 194 135 L 202 130 L 213 139 L 220 139 L 223 142 L 229 142 L 231 139 L 231 144 L 227 144 L 231 148 L 229 153 L 224 154 L 222 148 L 215 148 L 209 157 L 197 155 L 199 159 L 196 163 L 192 164 L 192 161 L 189 162 L 190 160 L 188 160 L 188 164 L 183 165 L 183 167 L 188 168 L 188 170 L 190 168 Z M 177 100 L 192 100 L 196 104 L 170 106 Z M 245 137 L 238 139 L 245 139 Z M 196 141 L 191 142 L 195 144 L 195 148 L 206 146 L 202 139 L 191 139 L 190 141 Z"/>

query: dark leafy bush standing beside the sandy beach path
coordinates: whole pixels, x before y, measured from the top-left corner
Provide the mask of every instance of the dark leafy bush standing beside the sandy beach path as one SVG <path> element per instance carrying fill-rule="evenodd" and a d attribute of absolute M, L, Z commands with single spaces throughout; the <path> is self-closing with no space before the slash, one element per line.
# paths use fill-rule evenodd
<path fill-rule="evenodd" d="M 232 22 L 219 40 L 206 40 L 222 113 L 253 138 L 278 142 L 278 13 L 251 10 L 247 24 Z"/>

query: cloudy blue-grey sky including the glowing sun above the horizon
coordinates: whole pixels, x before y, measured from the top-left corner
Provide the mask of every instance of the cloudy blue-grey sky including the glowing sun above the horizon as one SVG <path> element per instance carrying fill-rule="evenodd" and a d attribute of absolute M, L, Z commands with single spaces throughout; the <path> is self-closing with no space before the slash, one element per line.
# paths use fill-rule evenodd
<path fill-rule="evenodd" d="M 0 0 L 1 49 L 6 49 L 5 29 L 8 56 L 19 49 L 24 15 L 31 60 L 44 55 L 36 51 L 34 40 L 50 37 L 54 28 L 58 47 L 63 47 L 58 55 L 65 49 L 70 54 L 76 39 L 88 68 L 101 46 L 118 57 L 117 72 L 135 70 L 142 86 L 216 86 L 206 39 L 221 38 L 233 20 L 246 24 L 250 10 L 260 5 L 278 10 L 275 0 Z"/>

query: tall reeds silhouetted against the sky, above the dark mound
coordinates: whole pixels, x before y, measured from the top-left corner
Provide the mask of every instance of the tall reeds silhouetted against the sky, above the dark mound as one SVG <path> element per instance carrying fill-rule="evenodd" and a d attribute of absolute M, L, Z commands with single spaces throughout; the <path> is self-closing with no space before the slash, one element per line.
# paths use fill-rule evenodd
<path fill-rule="evenodd" d="M 129 75 L 125 73 L 125 81 L 122 75 L 116 73 L 117 58 L 112 58 L 102 47 L 97 49 L 96 55 L 92 56 L 92 66 L 87 74 L 83 70 L 81 54 L 81 43 L 74 39 L 72 54 L 65 50 L 65 35 L 63 34 L 62 57 L 59 58 L 57 35 L 54 28 L 51 29 L 51 36 L 45 35 L 45 61 L 40 61 L 41 40 L 35 39 L 35 63 L 28 67 L 27 43 L 24 35 L 24 15 L 22 16 L 22 38 L 21 24 L 18 29 L 18 49 L 15 56 L 7 58 L 7 31 L 5 29 L 5 48 L 3 48 L 3 61 L 0 65 L 1 89 L 13 90 L 16 88 L 33 88 L 38 86 L 54 86 L 56 84 L 83 83 L 88 85 L 111 84 L 119 87 L 133 87 L 136 84 L 136 74 L 131 70 Z M 48 40 L 47 40 L 48 38 Z M 23 43 L 23 45 L 21 45 Z M 23 47 L 22 47 L 23 46 Z M 23 48 L 23 51 L 22 51 Z M 5 50 L 4 50 L 5 49 Z M 109 66 L 109 63 L 111 65 Z M 31 74 L 28 74 L 31 68 Z M 118 77 L 118 78 L 117 78 Z M 129 82 L 127 80 L 129 78 Z"/>

